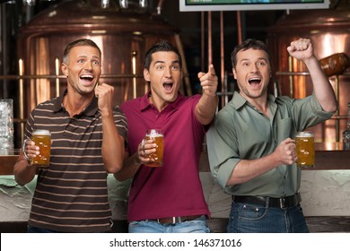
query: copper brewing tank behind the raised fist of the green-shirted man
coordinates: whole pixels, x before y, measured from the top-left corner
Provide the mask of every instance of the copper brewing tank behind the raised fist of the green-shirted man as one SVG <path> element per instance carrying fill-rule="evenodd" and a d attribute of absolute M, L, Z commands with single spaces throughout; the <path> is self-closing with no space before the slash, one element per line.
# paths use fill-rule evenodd
<path fill-rule="evenodd" d="M 303 98 L 312 92 L 306 67 L 301 61 L 292 59 L 286 50 L 294 39 L 311 39 L 319 59 L 337 53 L 350 56 L 350 4 L 349 1 L 343 2 L 346 3 L 328 10 L 292 11 L 268 29 L 267 44 L 273 55 L 279 94 Z M 337 95 L 337 114 L 311 130 L 317 142 L 334 143 L 342 141 L 341 134 L 346 128 L 346 104 L 350 101 L 349 69 L 329 77 L 329 81 Z"/>

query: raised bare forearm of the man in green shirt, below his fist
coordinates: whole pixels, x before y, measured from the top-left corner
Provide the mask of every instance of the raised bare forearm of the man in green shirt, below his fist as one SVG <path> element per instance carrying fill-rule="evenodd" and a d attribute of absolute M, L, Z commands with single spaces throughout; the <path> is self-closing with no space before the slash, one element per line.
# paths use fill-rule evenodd
<path fill-rule="evenodd" d="M 315 93 L 316 99 L 319 101 L 320 106 L 327 112 L 336 111 L 336 95 L 328 80 L 328 77 L 319 65 L 318 59 L 313 56 L 310 59 L 305 60 L 304 63 L 309 69 L 311 81 L 313 84 L 313 91 Z"/>

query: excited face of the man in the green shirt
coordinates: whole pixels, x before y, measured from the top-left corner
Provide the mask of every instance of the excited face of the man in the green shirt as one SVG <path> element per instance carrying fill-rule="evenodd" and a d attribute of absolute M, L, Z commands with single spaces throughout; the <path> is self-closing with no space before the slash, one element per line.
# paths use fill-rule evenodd
<path fill-rule="evenodd" d="M 253 48 L 240 50 L 232 72 L 240 93 L 246 100 L 266 99 L 267 86 L 271 78 L 271 67 L 266 51 Z"/>

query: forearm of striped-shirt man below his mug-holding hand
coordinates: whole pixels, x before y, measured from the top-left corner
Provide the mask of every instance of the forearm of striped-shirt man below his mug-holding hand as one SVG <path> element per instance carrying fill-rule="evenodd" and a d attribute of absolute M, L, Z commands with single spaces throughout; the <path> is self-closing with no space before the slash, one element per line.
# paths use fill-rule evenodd
<path fill-rule="evenodd" d="M 36 172 L 37 169 L 30 166 L 21 152 L 18 160 L 13 166 L 14 180 L 18 183 L 18 185 L 24 186 L 31 182 L 31 180 L 35 177 Z"/>

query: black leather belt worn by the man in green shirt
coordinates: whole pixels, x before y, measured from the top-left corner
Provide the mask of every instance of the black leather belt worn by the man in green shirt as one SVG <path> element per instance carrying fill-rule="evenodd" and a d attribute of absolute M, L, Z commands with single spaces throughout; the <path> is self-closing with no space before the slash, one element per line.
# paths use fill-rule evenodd
<path fill-rule="evenodd" d="M 267 205 L 278 208 L 287 208 L 294 205 L 297 205 L 302 202 L 302 196 L 297 193 L 292 196 L 286 196 L 281 198 L 272 198 L 264 196 L 241 196 L 241 195 L 232 195 L 232 201 L 235 203 L 252 203 L 259 205 Z"/>

